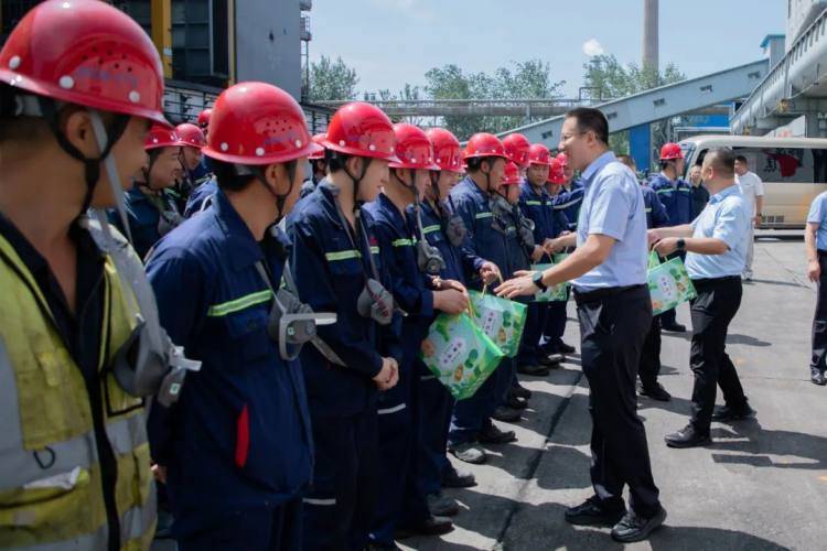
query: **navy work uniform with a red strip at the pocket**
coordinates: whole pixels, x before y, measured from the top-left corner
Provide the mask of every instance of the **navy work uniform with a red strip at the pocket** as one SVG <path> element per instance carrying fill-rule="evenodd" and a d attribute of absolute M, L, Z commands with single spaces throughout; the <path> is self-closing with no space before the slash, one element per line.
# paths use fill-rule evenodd
<path fill-rule="evenodd" d="M 147 272 L 161 324 L 187 357 L 171 409 L 154 403 L 153 460 L 167 484 L 180 549 L 300 545 L 301 496 L 313 463 L 301 368 L 267 331 L 286 238 L 257 242 L 223 192 L 155 247 Z"/>

